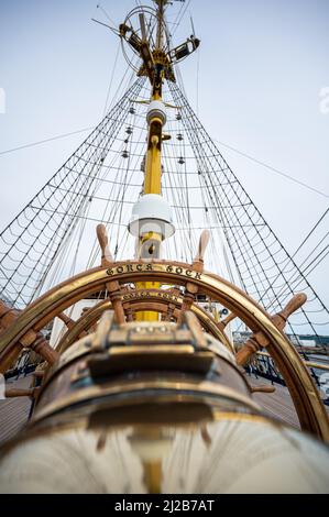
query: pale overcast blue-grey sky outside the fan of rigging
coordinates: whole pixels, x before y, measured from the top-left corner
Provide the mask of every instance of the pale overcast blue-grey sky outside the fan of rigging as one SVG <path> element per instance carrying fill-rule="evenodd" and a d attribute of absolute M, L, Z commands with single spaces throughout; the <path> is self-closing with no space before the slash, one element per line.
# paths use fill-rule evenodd
<path fill-rule="evenodd" d="M 101 4 L 119 24 L 135 2 Z M 172 8 L 172 20 L 179 7 Z M 174 37 L 177 44 L 190 34 L 190 13 L 202 43 L 199 56 L 185 62 L 182 73 L 189 101 L 208 132 L 327 196 L 219 145 L 293 253 L 328 207 L 329 112 L 320 109 L 320 91 L 329 88 L 329 2 L 191 0 Z M 97 0 L 1 0 L 0 88 L 6 91 L 6 113 L 0 113 L 0 152 L 100 120 L 118 41 L 92 23 L 92 16 L 108 22 L 97 10 Z M 112 94 L 124 69 L 120 54 Z M 84 138 L 0 155 L 1 229 Z M 327 257 L 310 276 L 327 305 L 328 266 Z"/>

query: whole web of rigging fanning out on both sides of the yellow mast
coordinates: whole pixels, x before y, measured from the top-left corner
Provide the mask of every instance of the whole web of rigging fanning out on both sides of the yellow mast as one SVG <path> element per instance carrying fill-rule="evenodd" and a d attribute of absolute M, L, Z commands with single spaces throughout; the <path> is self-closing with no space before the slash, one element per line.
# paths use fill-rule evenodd
<path fill-rule="evenodd" d="M 127 224 L 141 195 L 147 136 L 147 107 L 134 100 L 150 99 L 147 86 L 144 78 L 131 86 L 94 136 L 86 139 L 0 235 L 4 249 L 1 286 L 7 284 L 6 296 L 18 306 L 84 270 L 85 264 L 99 264 L 96 223 L 108 227 L 116 258 L 133 255 L 135 241 Z M 165 241 L 165 257 L 190 262 L 200 231 L 210 229 L 207 263 L 211 271 L 274 312 L 300 282 L 309 302 L 292 318 L 289 331 L 297 337 L 303 326 L 319 334 L 323 327 L 318 326 L 327 324 L 328 311 L 308 284 L 304 267 L 296 266 L 259 212 L 193 112 L 184 90 L 166 85 L 164 98 L 176 106 L 167 113 L 166 132 L 172 140 L 163 144 L 163 195 L 173 207 L 177 228 Z M 323 241 L 305 262 L 306 272 L 326 253 Z"/>

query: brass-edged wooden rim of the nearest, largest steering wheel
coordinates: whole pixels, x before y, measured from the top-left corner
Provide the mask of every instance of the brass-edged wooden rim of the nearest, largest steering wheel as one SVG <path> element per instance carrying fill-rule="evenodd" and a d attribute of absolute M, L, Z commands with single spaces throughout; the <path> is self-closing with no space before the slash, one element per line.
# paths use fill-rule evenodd
<path fill-rule="evenodd" d="M 189 304 L 190 307 L 193 306 L 191 295 L 199 292 L 213 301 L 220 302 L 231 314 L 240 318 L 254 333 L 255 340 L 253 343 L 257 340 L 264 343 L 270 355 L 275 361 L 289 389 L 301 429 L 310 431 L 321 439 L 329 440 L 327 414 L 317 388 L 299 354 L 287 337 L 275 324 L 273 318 L 232 284 L 217 275 L 206 272 L 199 273 L 190 264 L 166 261 L 114 263 L 111 267 L 90 270 L 64 282 L 26 307 L 20 314 L 14 324 L 10 326 L 2 333 L 0 340 L 0 371 L 4 373 L 10 367 L 19 356 L 22 348 L 26 348 L 26 343 L 33 341 L 33 334 L 36 336 L 48 322 L 68 307 L 78 300 L 90 297 L 92 294 L 110 289 L 112 306 L 116 304 L 117 307 L 121 306 L 124 314 L 124 304 L 122 305 L 121 299 L 122 286 L 141 282 L 154 282 L 166 286 L 183 286 L 185 290 L 180 302 L 180 311 L 186 308 L 186 304 Z M 152 299 L 147 299 L 149 310 L 152 304 L 154 307 Z M 106 306 L 103 309 L 106 309 Z M 145 305 L 142 306 L 141 310 L 144 309 Z M 207 327 L 206 323 L 204 321 L 204 327 Z M 222 331 L 221 333 L 223 334 Z M 220 338 L 220 336 L 217 337 Z M 44 348 L 41 346 L 37 351 L 41 356 L 48 362 L 53 362 L 55 360 L 54 352 L 53 355 L 50 354 L 46 346 L 44 344 Z M 238 359 L 241 361 L 241 352 L 239 353 Z M 250 348 L 242 350 L 242 355 L 244 356 L 248 356 L 250 353 L 252 353 Z"/>

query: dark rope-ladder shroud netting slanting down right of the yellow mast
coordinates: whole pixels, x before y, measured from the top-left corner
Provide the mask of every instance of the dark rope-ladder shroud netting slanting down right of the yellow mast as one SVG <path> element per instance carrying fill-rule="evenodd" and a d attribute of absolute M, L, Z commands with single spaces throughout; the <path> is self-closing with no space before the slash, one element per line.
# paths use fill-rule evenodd
<path fill-rule="evenodd" d="M 293 268 L 297 272 L 298 277 L 301 278 L 305 289 L 310 292 L 311 298 L 317 300 L 320 309 L 322 312 L 325 311 L 328 319 L 328 309 L 317 297 L 314 289 L 303 275 L 303 272 L 293 262 L 292 257 L 279 243 L 274 232 L 263 220 L 262 216 L 254 207 L 224 160 L 222 157 L 218 157 L 218 152 L 210 138 L 205 132 L 200 122 L 196 119 L 186 99 L 183 99 L 178 87 L 173 85 L 172 91 L 176 105 L 183 105 L 182 111 L 185 112 L 183 120 L 185 121 L 186 130 L 189 131 L 189 136 L 194 139 L 194 141 L 191 141 L 191 145 L 198 157 L 201 175 L 205 179 L 205 184 L 209 186 L 210 198 L 213 196 L 216 200 L 216 202 L 212 200 L 211 204 L 218 206 L 219 219 L 221 220 L 235 267 L 240 271 L 240 277 L 242 278 L 244 289 L 251 296 L 259 298 L 260 301 L 263 300 L 265 307 L 268 308 L 274 305 L 276 311 L 283 307 L 283 301 L 278 296 L 279 285 L 277 285 L 277 280 L 282 279 L 286 289 L 293 294 L 292 286 L 289 286 L 286 276 L 287 267 Z M 205 153 L 206 147 L 209 150 L 208 155 Z M 213 165 L 218 162 L 219 168 L 216 169 L 216 167 L 213 167 L 212 161 Z M 220 184 L 220 177 L 218 176 L 219 173 L 226 178 L 224 183 L 228 184 L 228 186 L 213 189 L 211 185 L 212 176 L 216 175 L 218 179 L 217 183 Z M 233 188 L 234 184 L 235 186 Z M 241 209 L 231 209 L 230 213 L 228 213 L 227 210 L 222 209 L 222 206 L 224 204 L 232 206 L 232 199 L 237 199 L 235 205 L 239 205 L 240 202 Z M 237 222 L 232 224 L 233 220 Z M 251 230 L 248 230 L 248 221 L 250 221 Z M 233 228 L 234 231 L 232 231 Z M 270 242 L 268 239 L 271 239 Z M 278 256 L 276 257 L 276 255 Z M 266 266 L 266 264 L 268 264 L 268 266 Z M 277 272 L 276 274 L 275 271 Z M 270 294 L 271 296 L 268 297 Z M 306 320 L 306 324 L 309 324 L 316 333 L 316 329 L 310 321 L 309 314 L 301 309 L 299 315 L 303 315 Z"/>

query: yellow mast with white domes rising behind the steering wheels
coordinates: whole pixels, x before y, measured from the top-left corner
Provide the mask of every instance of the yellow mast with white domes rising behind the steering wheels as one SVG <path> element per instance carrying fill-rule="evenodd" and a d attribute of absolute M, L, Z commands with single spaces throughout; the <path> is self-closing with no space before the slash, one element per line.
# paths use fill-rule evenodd
<path fill-rule="evenodd" d="M 174 64 L 191 54 L 200 43 L 193 35 L 178 47 L 169 50 L 169 42 L 165 44 L 164 41 L 167 34 L 164 13 L 168 0 L 154 0 L 154 3 L 156 10 L 153 10 L 152 14 L 149 12 L 149 15 L 153 16 L 151 22 L 149 20 L 146 23 L 146 11 L 138 8 L 120 25 L 121 38 L 142 59 L 138 75 L 146 76 L 151 84 L 151 99 L 146 114 L 147 147 L 143 193 L 133 208 L 132 222 L 129 226 L 130 232 L 138 239 L 136 256 L 140 260 L 158 260 L 162 242 L 175 232 L 171 207 L 162 197 L 162 146 L 165 140 L 171 139 L 163 133 L 167 120 L 166 105 L 163 101 L 163 82 L 165 80 L 176 81 Z M 136 14 L 139 18 L 138 28 L 131 23 L 131 18 Z M 153 38 L 152 32 L 155 31 Z M 160 284 L 140 283 L 138 287 L 150 289 L 161 286 Z M 141 321 L 153 321 L 157 318 L 158 315 L 155 312 L 138 315 L 138 319 Z"/>

